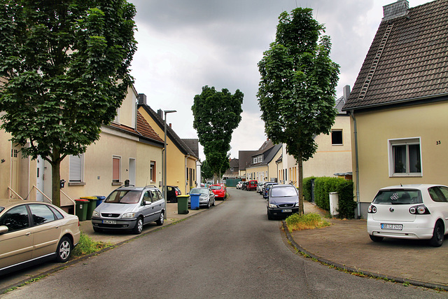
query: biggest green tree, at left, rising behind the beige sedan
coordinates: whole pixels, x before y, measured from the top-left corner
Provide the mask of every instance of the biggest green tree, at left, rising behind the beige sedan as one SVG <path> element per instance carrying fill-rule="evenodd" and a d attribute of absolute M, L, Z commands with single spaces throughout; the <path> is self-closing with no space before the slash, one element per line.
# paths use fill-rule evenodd
<path fill-rule="evenodd" d="M 135 7 L 125 0 L 0 1 L 1 127 L 22 154 L 59 166 L 85 152 L 132 84 Z"/>

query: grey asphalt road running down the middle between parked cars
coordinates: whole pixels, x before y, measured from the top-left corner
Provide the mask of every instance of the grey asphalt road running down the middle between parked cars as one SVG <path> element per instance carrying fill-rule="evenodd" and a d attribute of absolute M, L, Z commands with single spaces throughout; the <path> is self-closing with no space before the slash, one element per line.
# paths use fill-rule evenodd
<path fill-rule="evenodd" d="M 71 265 L 1 298 L 447 298 L 356 277 L 291 251 L 255 192 Z M 381 254 L 381 253 L 379 253 Z"/>

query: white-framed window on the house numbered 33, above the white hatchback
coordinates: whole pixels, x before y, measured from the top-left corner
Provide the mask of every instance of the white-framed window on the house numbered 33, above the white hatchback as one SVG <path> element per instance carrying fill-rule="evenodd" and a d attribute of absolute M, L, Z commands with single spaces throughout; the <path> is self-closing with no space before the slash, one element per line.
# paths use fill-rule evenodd
<path fill-rule="evenodd" d="M 391 176 L 421 176 L 420 138 L 391 139 L 388 142 Z"/>

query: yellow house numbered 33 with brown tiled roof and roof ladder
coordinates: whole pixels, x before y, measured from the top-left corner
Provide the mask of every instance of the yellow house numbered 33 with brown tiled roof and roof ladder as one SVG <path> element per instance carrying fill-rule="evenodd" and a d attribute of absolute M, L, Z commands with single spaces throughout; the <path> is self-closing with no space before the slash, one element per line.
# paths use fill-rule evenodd
<path fill-rule="evenodd" d="M 358 217 L 379 188 L 448 185 L 447 1 L 384 6 L 343 110 L 351 114 Z M 430 43 L 428 43 L 430 41 Z"/>

